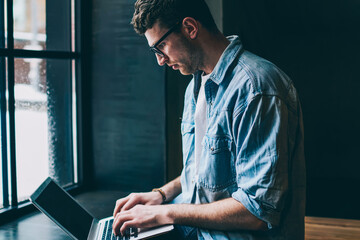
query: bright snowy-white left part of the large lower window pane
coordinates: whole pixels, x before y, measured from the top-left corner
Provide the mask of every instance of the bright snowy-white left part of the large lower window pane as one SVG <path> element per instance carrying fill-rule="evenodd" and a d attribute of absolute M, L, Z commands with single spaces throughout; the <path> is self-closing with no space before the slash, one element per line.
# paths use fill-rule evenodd
<path fill-rule="evenodd" d="M 18 200 L 49 175 L 46 61 L 15 59 L 15 129 Z"/>

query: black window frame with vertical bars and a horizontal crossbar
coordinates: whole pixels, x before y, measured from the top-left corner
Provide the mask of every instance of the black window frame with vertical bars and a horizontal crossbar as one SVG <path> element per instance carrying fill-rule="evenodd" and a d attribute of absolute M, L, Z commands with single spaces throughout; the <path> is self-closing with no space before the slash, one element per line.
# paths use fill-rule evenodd
<path fill-rule="evenodd" d="M 7 9 L 4 8 L 4 2 L 7 1 Z M 15 143 L 15 95 L 14 95 L 14 86 L 15 86 L 15 69 L 14 69 L 14 61 L 16 58 L 40 58 L 40 59 L 58 59 L 58 60 L 69 60 L 69 64 L 72 65 L 72 62 L 75 61 L 75 94 L 76 94 L 76 122 L 72 123 L 71 128 L 75 125 L 76 129 L 76 144 L 77 149 L 72 149 L 76 151 L 77 159 L 73 159 L 77 161 L 77 183 L 72 184 L 71 186 L 66 187 L 66 190 L 71 194 L 77 194 L 84 187 L 84 178 L 83 178 L 83 154 L 82 154 L 82 135 L 83 135 L 83 127 L 81 126 L 83 119 L 82 118 L 82 109 L 81 109 L 81 99 L 83 96 L 88 96 L 88 94 L 82 93 L 82 84 L 81 84 L 81 76 L 87 75 L 85 68 L 86 63 L 89 63 L 90 60 L 83 61 L 82 56 L 80 54 L 82 45 L 86 45 L 89 47 L 89 44 L 84 42 L 84 35 L 89 35 L 89 27 L 81 28 L 82 23 L 86 20 L 89 20 L 90 12 L 87 8 L 86 11 L 83 11 L 81 6 L 85 6 L 85 0 L 74 0 L 74 9 L 70 10 L 70 12 L 74 12 L 74 27 L 75 32 L 75 46 L 73 49 L 72 44 L 70 44 L 70 49 L 67 51 L 57 51 L 57 50 L 24 50 L 24 49 L 15 49 L 14 48 L 14 18 L 13 18 L 13 0 L 0 0 L 0 11 L 4 10 L 0 15 L 4 15 L 3 19 L 0 20 L 0 24 L 4 24 L 3 20 L 5 20 L 5 11 L 7 12 L 7 40 L 4 38 L 0 41 L 7 41 L 7 47 L 5 45 L 0 48 L 0 58 L 2 58 L 5 62 L 7 59 L 7 84 L 6 81 L 2 81 L 0 83 L 0 94 L 1 96 L 5 96 L 6 85 L 8 86 L 8 121 L 7 121 L 7 109 L 6 109 L 6 99 L 1 98 L 1 147 L 2 147 L 2 178 L 3 178 L 3 186 L 0 186 L 3 189 L 3 208 L 0 209 L 0 224 L 9 222 L 15 218 L 23 216 L 35 209 L 35 207 L 29 202 L 18 202 L 17 196 L 17 176 L 16 176 L 16 143 Z M 70 5 L 71 6 L 71 5 Z M 70 21 L 71 23 L 71 21 Z M 2 27 L 1 27 L 2 28 Z M 0 28 L 0 31 L 3 29 Z M 71 30 L 71 29 L 70 29 Z M 71 36 L 69 41 L 71 41 Z M 4 30 L 5 35 L 5 30 Z M 85 44 L 84 44 L 85 43 Z M 88 55 L 88 54 L 84 54 Z M 5 67 L 5 66 L 4 66 Z M 70 66 L 71 67 L 71 66 Z M 5 69 L 5 68 L 4 68 Z M 72 67 L 71 67 L 72 69 Z M 72 69 L 73 71 L 73 69 Z M 6 72 L 6 71 L 5 71 Z M 85 73 L 85 74 L 83 74 Z M 4 77 L 6 78 L 6 73 L 4 73 Z M 5 79 L 4 78 L 4 79 Z M 3 122 L 5 120 L 5 122 Z M 74 129 L 71 129 L 73 132 Z M 7 138 L 9 136 L 9 138 Z M 74 135 L 72 135 L 74 137 Z M 73 147 L 73 146 L 72 146 Z M 10 149 L 10 152 L 8 152 Z M 74 154 L 73 154 L 74 155 Z M 5 158 L 4 158 L 5 157 Z M 10 164 L 10 165 L 8 165 Z M 8 172 L 8 169 L 10 170 Z M 10 185 L 9 185 L 10 180 Z M 9 189 L 10 187 L 10 189 Z M 9 191 L 10 190 L 10 191 Z M 11 203 L 9 202 L 9 197 L 11 197 Z"/>

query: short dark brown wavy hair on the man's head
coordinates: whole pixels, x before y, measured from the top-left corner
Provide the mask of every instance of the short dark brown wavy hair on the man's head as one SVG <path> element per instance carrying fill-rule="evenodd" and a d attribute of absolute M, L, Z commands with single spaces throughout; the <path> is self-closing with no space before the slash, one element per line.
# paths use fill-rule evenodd
<path fill-rule="evenodd" d="M 138 34 L 144 34 L 159 21 L 170 28 L 185 17 L 199 21 L 209 31 L 217 31 L 215 21 L 204 0 L 137 0 L 131 21 Z"/>

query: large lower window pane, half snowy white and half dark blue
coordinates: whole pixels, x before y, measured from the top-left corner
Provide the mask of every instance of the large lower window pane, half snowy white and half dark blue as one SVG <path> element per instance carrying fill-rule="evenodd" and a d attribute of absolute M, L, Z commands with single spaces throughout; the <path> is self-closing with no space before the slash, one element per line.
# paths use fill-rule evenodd
<path fill-rule="evenodd" d="M 73 183 L 70 60 L 15 59 L 18 201 L 47 177 Z"/>

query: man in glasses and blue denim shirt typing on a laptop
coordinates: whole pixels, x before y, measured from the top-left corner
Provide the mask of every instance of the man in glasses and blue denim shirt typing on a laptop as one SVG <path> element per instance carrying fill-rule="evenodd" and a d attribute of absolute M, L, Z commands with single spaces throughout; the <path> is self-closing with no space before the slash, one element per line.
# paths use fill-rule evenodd
<path fill-rule="evenodd" d="M 138 0 L 132 24 L 159 65 L 193 79 L 181 176 L 119 199 L 115 233 L 175 224 L 183 239 L 304 239 L 303 126 L 291 80 L 223 36 L 203 0 Z"/>

